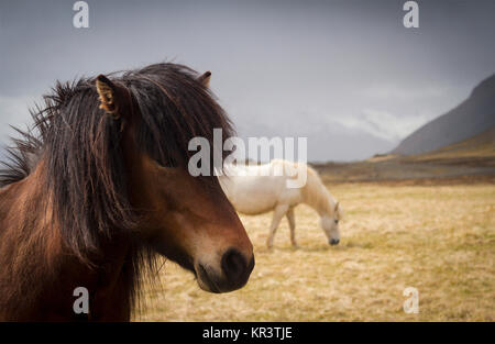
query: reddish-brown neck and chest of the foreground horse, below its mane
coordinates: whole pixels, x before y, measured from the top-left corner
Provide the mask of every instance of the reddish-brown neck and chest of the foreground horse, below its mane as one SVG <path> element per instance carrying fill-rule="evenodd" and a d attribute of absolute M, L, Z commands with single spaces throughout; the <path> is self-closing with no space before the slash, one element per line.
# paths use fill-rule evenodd
<path fill-rule="evenodd" d="M 87 257 L 92 265 L 72 254 L 50 215 L 50 201 L 41 182 L 44 166 L 40 162 L 30 176 L 0 190 L 0 319 L 73 319 L 73 292 L 79 286 L 86 287 L 91 298 L 102 300 L 94 302 L 102 310 L 92 309 L 92 314 L 113 308 L 114 319 L 129 319 L 135 278 L 132 268 L 130 276 L 122 276 L 130 270 L 125 267 L 129 242 L 125 237 L 103 242 L 105 256 Z M 6 280 L 9 284 L 3 284 Z M 43 309 L 48 315 L 42 313 Z"/>

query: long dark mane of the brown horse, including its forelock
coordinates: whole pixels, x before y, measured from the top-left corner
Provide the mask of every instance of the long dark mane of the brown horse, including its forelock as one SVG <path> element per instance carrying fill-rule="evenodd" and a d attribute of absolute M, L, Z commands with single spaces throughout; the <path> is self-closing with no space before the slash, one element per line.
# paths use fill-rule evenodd
<path fill-rule="evenodd" d="M 222 129 L 223 138 L 232 135 L 213 95 L 186 66 L 163 63 L 108 76 L 129 89 L 141 113 L 139 148 L 163 166 L 187 166 L 195 136 L 213 146 L 213 127 Z M 30 110 L 33 126 L 16 130 L 21 137 L 0 170 L 3 187 L 29 177 L 44 160 L 46 182 L 41 187 L 52 206 L 46 208 L 66 246 L 81 258 L 101 253 L 101 243 L 116 234 L 132 235 L 139 224 L 128 199 L 122 123 L 99 109 L 95 81 L 57 81 L 43 104 Z M 207 190 L 220 190 L 217 178 L 201 180 Z"/>

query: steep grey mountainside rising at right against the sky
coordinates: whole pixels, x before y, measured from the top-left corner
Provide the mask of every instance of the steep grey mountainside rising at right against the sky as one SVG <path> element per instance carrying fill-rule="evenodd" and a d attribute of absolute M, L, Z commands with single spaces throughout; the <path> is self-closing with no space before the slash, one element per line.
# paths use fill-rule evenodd
<path fill-rule="evenodd" d="M 495 75 L 492 75 L 460 106 L 415 131 L 391 153 L 421 154 L 475 136 L 494 125 Z"/>

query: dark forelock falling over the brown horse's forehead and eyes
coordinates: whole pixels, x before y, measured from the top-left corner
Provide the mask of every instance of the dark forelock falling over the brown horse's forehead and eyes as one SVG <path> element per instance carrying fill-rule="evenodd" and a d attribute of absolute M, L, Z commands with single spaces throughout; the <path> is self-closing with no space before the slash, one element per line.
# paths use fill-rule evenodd
<path fill-rule="evenodd" d="M 122 76 L 141 112 L 139 145 L 164 166 L 186 167 L 196 154 L 187 148 L 193 137 L 207 138 L 212 148 L 215 127 L 222 129 L 223 140 L 232 135 L 227 114 L 196 78 L 196 71 L 173 64 Z"/>

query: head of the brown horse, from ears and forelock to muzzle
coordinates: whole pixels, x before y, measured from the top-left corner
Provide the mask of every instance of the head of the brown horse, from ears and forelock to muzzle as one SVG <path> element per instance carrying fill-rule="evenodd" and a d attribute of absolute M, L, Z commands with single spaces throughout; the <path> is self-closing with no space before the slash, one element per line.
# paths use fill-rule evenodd
<path fill-rule="evenodd" d="M 211 140 L 213 126 L 227 129 L 207 89 L 210 73 L 164 78 L 160 66 L 154 68 L 112 80 L 100 75 L 95 81 L 100 109 L 119 122 L 136 232 L 154 251 L 193 271 L 201 289 L 235 290 L 254 267 L 253 246 L 217 177 L 193 177 L 185 164 L 183 143 L 195 135 Z"/>

